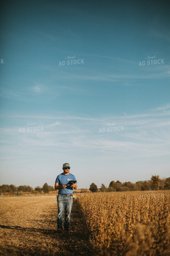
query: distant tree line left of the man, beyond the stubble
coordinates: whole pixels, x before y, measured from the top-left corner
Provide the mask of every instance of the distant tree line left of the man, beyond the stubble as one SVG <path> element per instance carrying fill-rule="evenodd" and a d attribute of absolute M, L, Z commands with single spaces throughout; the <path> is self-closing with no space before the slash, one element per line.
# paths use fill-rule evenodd
<path fill-rule="evenodd" d="M 16 195 L 20 195 L 21 192 L 30 192 L 30 193 L 49 193 L 49 191 L 55 191 L 53 186 L 49 186 L 47 183 L 43 185 L 43 187 L 37 186 L 35 189 L 33 189 L 30 186 L 21 185 L 16 187 L 15 185 L 2 185 L 0 186 L 0 193 L 16 193 Z"/>

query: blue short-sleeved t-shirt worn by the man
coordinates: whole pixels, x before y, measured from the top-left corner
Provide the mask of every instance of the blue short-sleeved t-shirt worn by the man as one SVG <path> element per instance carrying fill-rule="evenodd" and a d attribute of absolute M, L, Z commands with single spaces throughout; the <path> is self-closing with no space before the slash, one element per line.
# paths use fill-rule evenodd
<path fill-rule="evenodd" d="M 76 181 L 76 178 L 73 174 L 69 173 L 65 175 L 64 173 L 61 173 L 57 176 L 55 183 L 58 183 L 58 185 L 67 185 L 69 181 Z M 77 182 L 76 182 L 77 183 Z M 66 188 L 61 188 L 58 190 L 59 194 L 72 194 L 73 193 L 73 187 L 67 186 Z"/>

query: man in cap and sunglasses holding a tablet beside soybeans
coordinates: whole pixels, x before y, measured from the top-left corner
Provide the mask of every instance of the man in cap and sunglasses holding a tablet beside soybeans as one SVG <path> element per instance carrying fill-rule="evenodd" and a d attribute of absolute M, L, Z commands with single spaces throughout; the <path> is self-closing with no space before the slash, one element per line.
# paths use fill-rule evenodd
<path fill-rule="evenodd" d="M 70 215 L 73 203 L 73 189 L 77 188 L 77 182 L 67 186 L 69 181 L 76 181 L 75 176 L 70 172 L 70 165 L 68 163 L 63 164 L 63 173 L 59 174 L 55 181 L 55 189 L 58 189 L 57 204 L 58 204 L 58 216 L 57 216 L 57 232 L 63 231 L 63 212 L 65 210 L 64 230 L 69 231 Z"/>

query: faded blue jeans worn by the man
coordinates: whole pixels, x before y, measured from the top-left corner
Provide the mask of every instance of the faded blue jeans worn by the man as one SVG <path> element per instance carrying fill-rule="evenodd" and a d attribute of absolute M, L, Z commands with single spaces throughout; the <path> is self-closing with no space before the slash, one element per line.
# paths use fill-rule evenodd
<path fill-rule="evenodd" d="M 65 210 L 64 229 L 69 230 L 72 203 L 73 203 L 72 196 L 58 194 L 57 196 L 57 204 L 58 204 L 57 227 L 58 229 L 61 229 L 61 230 L 63 229 L 63 212 Z"/>

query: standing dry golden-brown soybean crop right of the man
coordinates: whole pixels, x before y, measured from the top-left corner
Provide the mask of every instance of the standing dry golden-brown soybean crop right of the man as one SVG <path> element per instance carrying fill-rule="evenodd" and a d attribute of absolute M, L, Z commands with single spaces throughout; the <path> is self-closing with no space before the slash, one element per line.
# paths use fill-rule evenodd
<path fill-rule="evenodd" d="M 95 255 L 170 255 L 170 192 L 111 192 L 77 199 Z"/>

